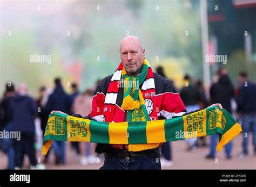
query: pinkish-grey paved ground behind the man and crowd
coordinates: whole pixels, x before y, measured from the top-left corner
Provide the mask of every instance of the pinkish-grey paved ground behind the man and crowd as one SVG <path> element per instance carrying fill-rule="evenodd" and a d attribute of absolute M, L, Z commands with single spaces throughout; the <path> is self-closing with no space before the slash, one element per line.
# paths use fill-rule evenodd
<path fill-rule="evenodd" d="M 242 133 L 233 140 L 233 151 L 231 160 L 226 160 L 224 149 L 217 153 L 217 159 L 206 160 L 209 148 L 197 148 L 193 152 L 186 151 L 185 141 L 171 142 L 173 152 L 173 166 L 162 169 L 256 169 L 256 156 L 253 155 L 252 134 L 250 134 L 249 155 L 244 159 L 239 159 L 237 154 L 241 151 Z M 207 137 L 207 142 L 210 138 Z M 51 152 L 52 153 L 52 152 Z M 41 153 L 37 153 L 38 158 L 42 158 Z M 0 169 L 6 167 L 7 157 L 0 153 Z M 79 156 L 70 148 L 70 142 L 67 143 L 66 164 L 56 166 L 54 156 L 50 155 L 50 162 L 46 164 L 46 169 L 99 169 L 103 165 L 103 160 L 97 164 L 83 166 L 80 164 Z M 28 168 L 28 157 L 25 157 L 24 168 Z"/>

